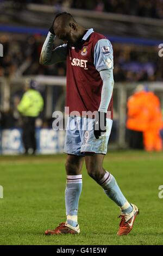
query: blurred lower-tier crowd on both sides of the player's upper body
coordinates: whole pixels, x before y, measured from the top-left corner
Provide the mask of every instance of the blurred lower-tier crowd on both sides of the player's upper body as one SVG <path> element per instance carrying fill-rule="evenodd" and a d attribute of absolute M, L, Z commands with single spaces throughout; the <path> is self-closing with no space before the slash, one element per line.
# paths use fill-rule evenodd
<path fill-rule="evenodd" d="M 65 63 L 41 66 L 39 57 L 44 37 L 39 34 L 26 36 L 24 40 L 11 40 L 0 36 L 4 46 L 4 58 L 0 59 L 0 77 L 17 75 L 66 75 Z M 55 43 L 57 45 L 57 43 Z M 54 46 L 55 47 L 55 46 Z M 163 59 L 158 47 L 113 44 L 114 78 L 116 82 L 142 82 L 163 80 Z"/>

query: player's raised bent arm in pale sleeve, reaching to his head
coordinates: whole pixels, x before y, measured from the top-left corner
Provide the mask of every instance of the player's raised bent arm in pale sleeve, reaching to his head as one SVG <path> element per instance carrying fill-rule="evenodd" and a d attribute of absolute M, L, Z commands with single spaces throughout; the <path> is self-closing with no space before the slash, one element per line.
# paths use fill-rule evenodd
<path fill-rule="evenodd" d="M 61 45 L 53 50 L 55 38 L 56 35 L 54 33 L 52 24 L 51 28 L 49 28 L 47 38 L 42 46 L 42 51 L 40 55 L 41 65 L 52 65 L 59 62 L 64 62 L 66 60 L 67 44 Z"/>

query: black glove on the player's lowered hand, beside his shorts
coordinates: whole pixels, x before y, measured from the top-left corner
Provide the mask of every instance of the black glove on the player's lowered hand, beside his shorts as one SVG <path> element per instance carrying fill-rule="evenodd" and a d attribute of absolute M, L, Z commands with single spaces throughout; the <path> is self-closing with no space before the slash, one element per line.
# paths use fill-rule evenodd
<path fill-rule="evenodd" d="M 93 126 L 94 135 L 96 139 L 101 136 L 102 132 L 106 132 L 106 113 L 98 111 L 95 117 L 95 123 Z"/>

